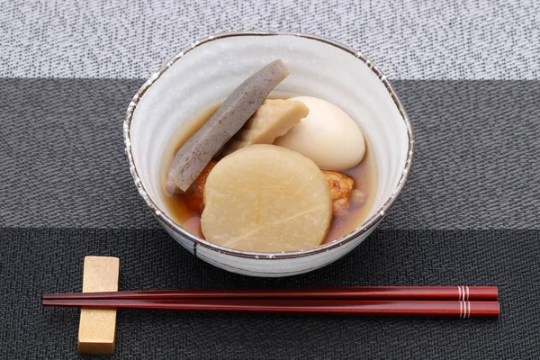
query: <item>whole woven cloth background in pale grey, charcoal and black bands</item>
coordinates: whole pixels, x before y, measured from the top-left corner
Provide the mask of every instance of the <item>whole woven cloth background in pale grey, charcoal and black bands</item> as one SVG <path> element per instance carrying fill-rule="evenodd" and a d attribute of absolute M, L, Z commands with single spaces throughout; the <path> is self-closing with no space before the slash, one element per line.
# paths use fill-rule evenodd
<path fill-rule="evenodd" d="M 131 96 L 178 49 L 232 30 L 328 36 L 391 78 L 417 155 L 350 255 L 308 275 L 232 275 L 189 255 L 123 155 Z M 76 358 L 83 258 L 121 289 L 493 284 L 499 320 L 120 311 L 112 358 L 540 357 L 540 4 L 536 1 L 0 0 L 0 359 Z M 84 357 L 81 357 L 84 358 Z"/>

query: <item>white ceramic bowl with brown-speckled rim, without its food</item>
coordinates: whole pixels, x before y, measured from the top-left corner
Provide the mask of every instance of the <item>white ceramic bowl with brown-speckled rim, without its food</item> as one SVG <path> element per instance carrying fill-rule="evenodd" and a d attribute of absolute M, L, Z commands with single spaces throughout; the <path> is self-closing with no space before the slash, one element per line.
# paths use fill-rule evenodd
<path fill-rule="evenodd" d="M 291 75 L 277 92 L 320 97 L 345 110 L 374 151 L 378 186 L 368 220 L 336 241 L 303 251 L 256 253 L 214 245 L 176 224 L 160 191 L 166 148 L 194 114 L 224 99 L 260 67 L 281 58 Z M 360 52 L 319 36 L 250 31 L 195 41 L 171 58 L 133 97 L 123 124 L 130 172 L 166 231 L 196 257 L 234 273 L 287 276 L 326 266 L 358 246 L 383 220 L 410 172 L 409 118 L 383 73 Z"/>

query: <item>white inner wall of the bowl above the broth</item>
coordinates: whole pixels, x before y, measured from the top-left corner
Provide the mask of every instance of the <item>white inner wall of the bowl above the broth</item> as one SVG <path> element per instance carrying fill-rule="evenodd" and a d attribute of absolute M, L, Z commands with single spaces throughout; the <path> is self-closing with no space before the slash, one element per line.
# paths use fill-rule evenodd
<path fill-rule="evenodd" d="M 193 126 L 190 121 L 198 112 L 222 101 L 247 76 L 277 58 L 291 75 L 276 92 L 335 103 L 364 131 L 378 171 L 369 217 L 396 194 L 408 160 L 410 132 L 369 63 L 320 40 L 242 35 L 207 41 L 179 54 L 139 98 L 130 122 L 131 153 L 141 184 L 159 211 L 168 215 L 160 180 L 172 137 Z"/>

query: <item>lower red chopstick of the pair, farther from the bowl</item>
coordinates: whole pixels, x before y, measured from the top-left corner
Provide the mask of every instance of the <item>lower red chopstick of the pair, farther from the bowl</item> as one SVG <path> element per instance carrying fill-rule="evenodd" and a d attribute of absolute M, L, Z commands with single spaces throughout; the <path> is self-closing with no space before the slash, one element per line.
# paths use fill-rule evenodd
<path fill-rule="evenodd" d="M 497 318 L 499 302 L 268 299 L 44 299 L 44 306 L 439 318 Z"/>

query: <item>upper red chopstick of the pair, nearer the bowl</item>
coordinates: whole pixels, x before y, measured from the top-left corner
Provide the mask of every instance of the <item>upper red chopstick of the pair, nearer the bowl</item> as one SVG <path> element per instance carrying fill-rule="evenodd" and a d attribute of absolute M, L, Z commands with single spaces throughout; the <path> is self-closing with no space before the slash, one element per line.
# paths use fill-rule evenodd
<path fill-rule="evenodd" d="M 252 290 L 158 290 L 112 293 L 51 293 L 53 299 L 305 299 L 496 302 L 496 286 L 347 286 Z"/>

